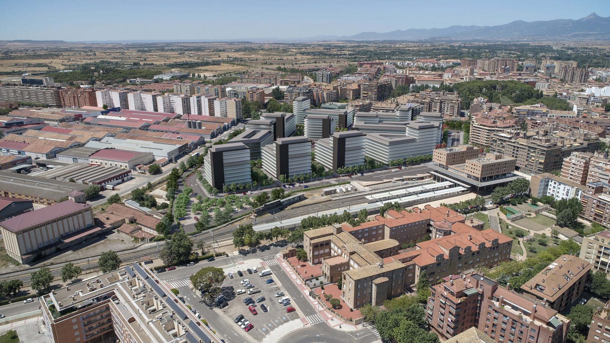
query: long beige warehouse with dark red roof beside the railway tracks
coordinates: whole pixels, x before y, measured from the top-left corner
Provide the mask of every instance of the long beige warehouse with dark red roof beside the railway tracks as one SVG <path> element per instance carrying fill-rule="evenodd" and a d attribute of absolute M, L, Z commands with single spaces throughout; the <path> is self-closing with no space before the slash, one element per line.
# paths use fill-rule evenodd
<path fill-rule="evenodd" d="M 79 239 L 74 233 L 87 234 L 102 228 L 93 226 L 91 205 L 72 200 L 37 209 L 0 222 L 7 254 L 26 263 L 49 255 L 57 247 L 65 247 Z M 89 232 L 91 231 L 91 232 Z"/>

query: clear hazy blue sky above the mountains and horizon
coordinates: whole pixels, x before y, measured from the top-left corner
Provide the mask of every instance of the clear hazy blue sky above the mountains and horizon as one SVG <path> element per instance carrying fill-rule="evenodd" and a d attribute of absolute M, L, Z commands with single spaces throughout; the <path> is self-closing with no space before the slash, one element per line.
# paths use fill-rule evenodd
<path fill-rule="evenodd" d="M 189 40 L 353 35 L 610 16 L 609 0 L 0 0 L 0 40 Z"/>

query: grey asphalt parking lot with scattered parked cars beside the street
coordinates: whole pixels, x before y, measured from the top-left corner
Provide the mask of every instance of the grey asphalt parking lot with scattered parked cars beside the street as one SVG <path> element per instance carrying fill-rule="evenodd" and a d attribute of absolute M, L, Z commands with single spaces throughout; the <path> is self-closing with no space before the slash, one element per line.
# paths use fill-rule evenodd
<path fill-rule="evenodd" d="M 273 331 L 280 325 L 289 322 L 290 320 L 299 319 L 300 315 L 298 311 L 287 313 L 287 308 L 295 308 L 296 306 L 290 302 L 287 305 L 279 303 L 279 299 L 284 297 L 290 297 L 281 284 L 278 284 L 273 274 L 266 276 L 259 276 L 259 273 L 265 269 L 260 265 L 243 265 L 240 266 L 242 269 L 243 276 L 239 276 L 237 273 L 233 273 L 233 278 L 226 278 L 222 285 L 222 289 L 225 293 L 229 291 L 231 294 L 226 294 L 225 298 L 228 301 L 229 306 L 223 309 L 224 314 L 228 316 L 230 322 L 234 322 L 235 318 L 240 314 L 248 320 L 254 327 L 248 331 L 249 334 L 253 335 L 253 338 L 257 340 L 267 336 L 268 333 Z M 249 274 L 246 269 L 256 267 L 257 272 Z M 272 279 L 273 282 L 265 283 L 265 281 Z M 251 289 L 260 289 L 260 292 L 256 294 L 248 294 L 245 280 L 249 280 L 249 283 L 254 286 Z M 243 281 L 243 282 L 242 282 Z M 243 291 L 242 291 L 243 290 Z M 278 292 L 284 292 L 284 295 L 276 297 Z M 238 294 L 239 293 L 239 294 Z M 228 296 L 227 296 L 228 295 Z M 264 297 L 264 300 L 260 300 Z M 254 315 L 248 310 L 248 305 L 244 303 L 246 298 L 252 298 L 257 314 Z M 259 302 L 257 302 L 259 301 Z M 263 311 L 262 306 L 265 305 L 267 311 Z M 234 324 L 235 328 L 238 324 Z M 240 330 L 243 330 L 240 328 Z"/>

